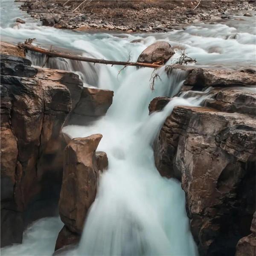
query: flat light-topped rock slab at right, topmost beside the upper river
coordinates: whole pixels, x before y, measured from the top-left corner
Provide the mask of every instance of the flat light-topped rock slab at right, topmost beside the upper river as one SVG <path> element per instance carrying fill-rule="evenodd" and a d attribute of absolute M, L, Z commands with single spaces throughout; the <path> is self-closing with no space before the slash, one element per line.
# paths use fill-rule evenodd
<path fill-rule="evenodd" d="M 185 85 L 195 88 L 252 86 L 256 83 L 256 75 L 233 70 L 213 70 L 196 68 L 189 73 Z"/>

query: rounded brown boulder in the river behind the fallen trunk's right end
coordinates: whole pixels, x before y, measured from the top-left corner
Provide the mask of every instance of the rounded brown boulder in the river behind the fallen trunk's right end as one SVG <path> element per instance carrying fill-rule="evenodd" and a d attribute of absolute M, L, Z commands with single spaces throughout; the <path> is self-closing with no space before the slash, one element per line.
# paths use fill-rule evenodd
<path fill-rule="evenodd" d="M 154 44 L 148 46 L 139 56 L 137 62 L 143 63 L 155 63 L 159 62 L 161 64 L 166 63 L 175 51 L 172 49 L 171 45 L 164 41 L 158 41 Z"/>

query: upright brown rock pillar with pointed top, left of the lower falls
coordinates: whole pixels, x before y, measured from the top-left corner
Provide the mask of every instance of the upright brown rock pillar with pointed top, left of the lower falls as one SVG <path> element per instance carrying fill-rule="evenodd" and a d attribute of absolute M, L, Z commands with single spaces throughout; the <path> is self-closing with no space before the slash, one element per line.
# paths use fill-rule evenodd
<path fill-rule="evenodd" d="M 61 220 L 74 233 L 81 234 L 87 210 L 96 196 L 95 151 L 101 138 L 101 134 L 75 138 L 65 148 L 59 211 Z"/>

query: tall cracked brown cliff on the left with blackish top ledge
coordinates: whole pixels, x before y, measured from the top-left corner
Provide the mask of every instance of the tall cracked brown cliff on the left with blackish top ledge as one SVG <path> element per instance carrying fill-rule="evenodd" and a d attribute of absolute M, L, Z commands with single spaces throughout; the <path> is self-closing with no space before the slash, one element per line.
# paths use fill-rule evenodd
<path fill-rule="evenodd" d="M 33 202 L 58 201 L 62 163 L 56 156 L 71 110 L 70 91 L 64 84 L 39 80 L 36 73 L 29 60 L 1 55 L 1 209 L 6 212 L 1 230 L 9 230 L 1 246 L 21 242 L 29 221 L 24 212 Z"/>

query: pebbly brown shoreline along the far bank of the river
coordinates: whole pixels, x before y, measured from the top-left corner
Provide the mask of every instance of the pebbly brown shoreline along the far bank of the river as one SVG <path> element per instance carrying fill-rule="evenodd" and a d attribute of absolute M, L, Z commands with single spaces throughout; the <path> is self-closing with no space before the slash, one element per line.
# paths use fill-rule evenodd
<path fill-rule="evenodd" d="M 196 9 L 198 1 L 16 1 L 43 26 L 79 31 L 168 32 L 188 24 L 228 20 L 234 13 L 253 16 L 256 11 L 251 0 L 202 0 Z"/>

